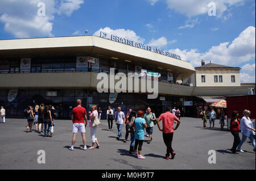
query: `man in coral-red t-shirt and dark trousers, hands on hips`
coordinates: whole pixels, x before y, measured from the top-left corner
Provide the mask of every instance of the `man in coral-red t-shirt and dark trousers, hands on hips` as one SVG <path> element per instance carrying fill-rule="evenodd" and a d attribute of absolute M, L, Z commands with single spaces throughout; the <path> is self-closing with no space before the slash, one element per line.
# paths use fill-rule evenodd
<path fill-rule="evenodd" d="M 162 129 L 159 123 L 161 120 L 163 121 Z M 176 128 L 174 128 L 175 120 L 177 121 Z M 171 113 L 170 107 L 166 108 L 166 113 L 162 113 L 158 117 L 158 128 L 159 128 L 159 131 L 163 132 L 164 144 L 166 144 L 166 147 L 167 147 L 166 159 L 169 159 L 170 153 L 172 156 L 171 159 L 174 159 L 175 152 L 172 149 L 172 138 L 174 137 L 174 131 L 179 127 L 179 125 L 180 125 L 180 120 L 173 113 Z"/>

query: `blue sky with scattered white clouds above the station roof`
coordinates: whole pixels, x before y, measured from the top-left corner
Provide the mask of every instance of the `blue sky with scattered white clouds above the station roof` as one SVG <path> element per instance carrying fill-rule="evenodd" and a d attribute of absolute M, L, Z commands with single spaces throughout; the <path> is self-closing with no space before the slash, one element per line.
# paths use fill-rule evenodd
<path fill-rule="evenodd" d="M 241 68 L 255 83 L 255 0 L 1 0 L 0 39 L 99 36 Z"/>

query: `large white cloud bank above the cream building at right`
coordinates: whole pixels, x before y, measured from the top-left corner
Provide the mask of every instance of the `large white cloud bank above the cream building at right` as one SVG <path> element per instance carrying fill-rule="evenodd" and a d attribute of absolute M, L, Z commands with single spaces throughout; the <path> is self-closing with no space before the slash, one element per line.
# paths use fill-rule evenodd
<path fill-rule="evenodd" d="M 193 66 L 200 66 L 202 59 L 215 64 L 238 65 L 255 58 L 255 27 L 247 27 L 231 44 L 220 43 L 205 53 L 200 53 L 197 49 L 174 49 L 170 52 L 179 54 L 182 60 L 190 61 Z"/>

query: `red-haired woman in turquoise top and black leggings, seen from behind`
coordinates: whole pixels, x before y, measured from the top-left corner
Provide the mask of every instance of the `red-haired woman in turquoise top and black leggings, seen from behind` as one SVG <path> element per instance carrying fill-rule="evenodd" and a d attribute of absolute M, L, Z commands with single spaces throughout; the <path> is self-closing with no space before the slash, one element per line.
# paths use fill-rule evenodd
<path fill-rule="evenodd" d="M 145 159 L 141 155 L 141 150 L 142 150 L 142 144 L 144 140 L 144 128 L 147 128 L 147 123 L 146 121 L 142 118 L 144 115 L 143 111 L 138 111 L 137 113 L 138 117 L 134 120 L 134 125 L 135 125 L 135 144 L 134 144 L 134 156 L 138 157 L 139 159 Z M 137 152 L 137 147 L 138 152 Z M 139 154 L 138 154 L 139 153 Z"/>

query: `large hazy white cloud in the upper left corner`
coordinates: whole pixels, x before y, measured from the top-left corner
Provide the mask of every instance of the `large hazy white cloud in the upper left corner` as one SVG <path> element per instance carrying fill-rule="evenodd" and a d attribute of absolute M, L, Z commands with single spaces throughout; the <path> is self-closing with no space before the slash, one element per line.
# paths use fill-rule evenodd
<path fill-rule="evenodd" d="M 38 16 L 38 3 L 46 5 L 46 15 Z M 52 28 L 54 14 L 71 15 L 78 9 L 81 0 L 9 0 L 0 1 L 0 23 L 4 30 L 18 38 L 54 36 Z M 69 6 L 66 6 L 68 3 Z"/>

